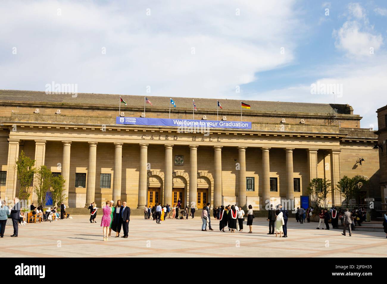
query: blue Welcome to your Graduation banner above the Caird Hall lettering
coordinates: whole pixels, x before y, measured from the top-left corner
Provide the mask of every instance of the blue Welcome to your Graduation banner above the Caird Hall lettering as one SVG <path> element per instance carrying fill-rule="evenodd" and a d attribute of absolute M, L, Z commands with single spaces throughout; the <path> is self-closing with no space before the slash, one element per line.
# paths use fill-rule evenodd
<path fill-rule="evenodd" d="M 117 116 L 116 124 L 177 126 L 177 127 L 197 127 L 197 128 L 251 129 L 251 122 L 247 122 L 247 121 L 217 121 L 217 120 L 169 119 L 169 118 L 147 118 L 147 117 Z"/>

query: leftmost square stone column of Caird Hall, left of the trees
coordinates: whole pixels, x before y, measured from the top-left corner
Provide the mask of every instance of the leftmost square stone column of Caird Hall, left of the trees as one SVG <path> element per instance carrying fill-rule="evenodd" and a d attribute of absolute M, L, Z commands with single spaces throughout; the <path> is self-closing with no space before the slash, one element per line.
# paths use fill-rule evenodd
<path fill-rule="evenodd" d="M 8 160 L 7 160 L 7 180 L 6 199 L 13 200 L 16 195 L 17 169 L 16 160 L 19 158 L 19 139 L 8 139 Z"/>

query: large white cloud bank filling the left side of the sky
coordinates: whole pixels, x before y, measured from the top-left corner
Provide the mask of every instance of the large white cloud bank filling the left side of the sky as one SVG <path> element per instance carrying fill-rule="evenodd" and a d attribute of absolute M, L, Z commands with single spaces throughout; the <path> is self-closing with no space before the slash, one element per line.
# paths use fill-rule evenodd
<path fill-rule="evenodd" d="M 224 95 L 254 81 L 255 73 L 294 60 L 302 30 L 295 2 L 3 2 L 0 68 L 6 72 L 0 83 L 29 90 L 55 81 L 77 83 L 79 92 L 140 95 L 151 86 L 147 95 Z"/>

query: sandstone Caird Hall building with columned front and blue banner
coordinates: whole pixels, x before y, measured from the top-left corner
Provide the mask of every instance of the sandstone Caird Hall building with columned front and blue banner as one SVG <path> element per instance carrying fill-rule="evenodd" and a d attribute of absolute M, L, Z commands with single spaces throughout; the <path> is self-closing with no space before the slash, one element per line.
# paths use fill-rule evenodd
<path fill-rule="evenodd" d="M 350 105 L 244 101 L 251 108 L 241 123 L 240 100 L 219 100 L 217 109 L 216 99 L 195 99 L 192 122 L 192 99 L 173 98 L 170 110 L 169 97 L 147 98 L 144 117 L 142 96 L 122 96 L 125 105 L 119 95 L 0 90 L 2 198 L 17 196 L 21 151 L 64 177 L 69 207 L 121 199 L 135 208 L 180 198 L 183 206 L 259 210 L 269 199 L 299 204 L 311 179 L 336 185 L 344 175 L 364 176 L 365 197 L 384 198 L 377 135 L 360 128 Z M 181 127 L 187 122 L 211 127 L 195 133 Z M 342 202 L 334 186 L 329 205 Z"/>

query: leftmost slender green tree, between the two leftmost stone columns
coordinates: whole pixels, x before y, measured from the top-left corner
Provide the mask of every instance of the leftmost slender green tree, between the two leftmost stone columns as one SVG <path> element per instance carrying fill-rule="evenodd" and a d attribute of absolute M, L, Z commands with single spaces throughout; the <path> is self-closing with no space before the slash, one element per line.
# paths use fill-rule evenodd
<path fill-rule="evenodd" d="M 30 188 L 35 173 L 34 165 L 35 160 L 32 160 L 30 157 L 26 156 L 22 150 L 15 165 L 17 170 L 17 178 L 19 179 L 19 199 L 28 199 L 29 196 L 31 196 Z"/>

